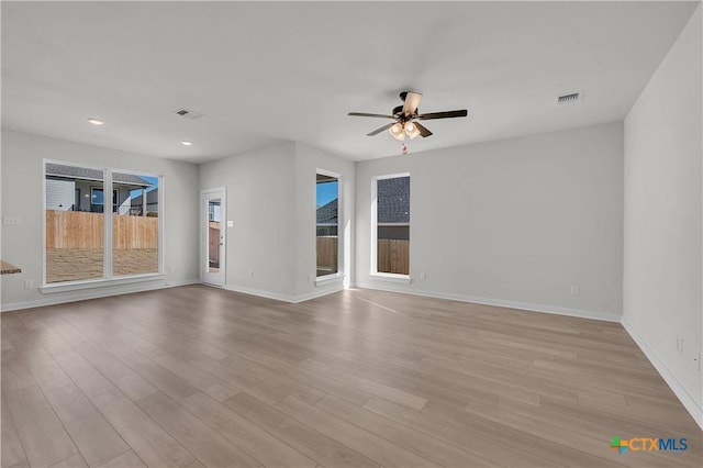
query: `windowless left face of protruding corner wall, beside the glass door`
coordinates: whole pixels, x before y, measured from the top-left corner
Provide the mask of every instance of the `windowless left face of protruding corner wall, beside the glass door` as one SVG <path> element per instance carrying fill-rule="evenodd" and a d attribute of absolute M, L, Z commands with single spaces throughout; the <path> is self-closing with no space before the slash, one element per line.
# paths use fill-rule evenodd
<path fill-rule="evenodd" d="M 200 165 L 201 189 L 227 191 L 224 219 L 234 225 L 225 227 L 226 289 L 294 297 L 294 165 L 292 142 Z"/>

